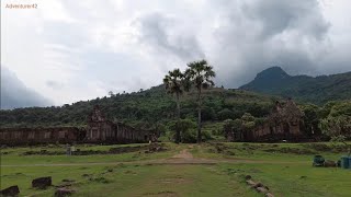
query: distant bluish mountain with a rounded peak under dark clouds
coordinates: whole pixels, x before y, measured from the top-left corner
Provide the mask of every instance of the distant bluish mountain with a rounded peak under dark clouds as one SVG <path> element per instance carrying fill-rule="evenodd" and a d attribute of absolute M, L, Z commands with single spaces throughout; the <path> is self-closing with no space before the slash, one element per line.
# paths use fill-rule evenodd
<path fill-rule="evenodd" d="M 328 101 L 351 99 L 351 72 L 314 78 L 290 76 L 281 67 L 271 67 L 239 89 L 324 104 Z"/>

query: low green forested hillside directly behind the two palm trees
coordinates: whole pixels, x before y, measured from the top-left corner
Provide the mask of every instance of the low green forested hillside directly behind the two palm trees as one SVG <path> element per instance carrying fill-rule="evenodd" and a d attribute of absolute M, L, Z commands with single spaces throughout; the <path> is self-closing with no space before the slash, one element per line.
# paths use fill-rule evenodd
<path fill-rule="evenodd" d="M 203 94 L 202 117 L 207 120 L 239 118 L 245 113 L 263 117 L 270 113 L 279 97 L 252 93 L 242 90 L 214 88 Z M 3 127 L 47 127 L 84 126 L 94 105 L 100 105 L 105 116 L 114 121 L 124 121 L 140 128 L 152 128 L 156 123 L 174 119 L 174 99 L 166 94 L 165 86 L 150 90 L 112 94 L 91 101 L 81 101 L 71 105 L 53 107 L 27 107 L 1 111 L 0 126 Z M 181 117 L 195 118 L 195 93 L 181 96 Z"/>

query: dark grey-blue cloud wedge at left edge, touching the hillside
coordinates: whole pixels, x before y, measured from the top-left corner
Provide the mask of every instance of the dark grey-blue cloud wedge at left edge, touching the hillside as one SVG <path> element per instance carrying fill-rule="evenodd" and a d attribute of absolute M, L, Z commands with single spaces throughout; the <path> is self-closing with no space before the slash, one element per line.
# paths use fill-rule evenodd
<path fill-rule="evenodd" d="M 1 109 L 48 106 L 52 102 L 29 89 L 8 68 L 1 66 Z"/>

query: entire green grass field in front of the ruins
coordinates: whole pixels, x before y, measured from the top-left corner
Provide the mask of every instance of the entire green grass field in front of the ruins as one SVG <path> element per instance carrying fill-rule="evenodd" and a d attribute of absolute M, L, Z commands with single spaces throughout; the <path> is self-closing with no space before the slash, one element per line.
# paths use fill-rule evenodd
<path fill-rule="evenodd" d="M 125 144 L 124 144 L 125 146 Z M 127 144 L 140 146 L 140 144 Z M 116 146 L 78 146 L 109 150 Z M 262 182 L 275 196 L 350 196 L 351 170 L 313 167 L 314 154 L 337 160 L 329 143 L 166 143 L 166 151 L 93 155 L 25 155 L 63 147 L 7 148 L 1 152 L 1 188 L 19 185 L 21 196 L 53 196 L 55 187 L 31 188 L 36 177 L 53 185 L 70 182 L 73 196 L 263 196 L 245 176 Z M 186 154 L 180 152 L 186 150 Z M 178 157 L 173 157 L 177 154 Z M 64 182 L 66 179 L 66 182 Z"/>

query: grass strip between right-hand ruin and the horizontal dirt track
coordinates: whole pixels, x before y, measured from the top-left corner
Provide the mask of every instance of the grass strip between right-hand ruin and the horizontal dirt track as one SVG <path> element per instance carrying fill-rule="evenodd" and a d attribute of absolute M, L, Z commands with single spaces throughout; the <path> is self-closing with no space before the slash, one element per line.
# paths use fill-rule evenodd
<path fill-rule="evenodd" d="M 341 143 L 332 144 L 326 142 L 318 143 L 245 143 L 225 142 L 220 143 L 222 150 L 217 150 L 214 144 L 204 143 L 201 147 L 194 146 L 191 150 L 197 158 L 216 159 L 248 159 L 260 161 L 282 161 L 282 162 L 306 162 L 312 163 L 315 154 L 322 154 L 327 160 L 337 161 L 346 151 L 341 151 Z M 315 147 L 316 146 L 316 147 Z M 324 146 L 327 150 L 319 150 Z M 284 152 L 285 151 L 285 152 Z"/>

